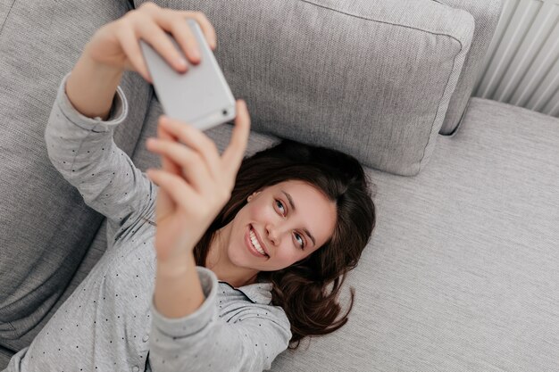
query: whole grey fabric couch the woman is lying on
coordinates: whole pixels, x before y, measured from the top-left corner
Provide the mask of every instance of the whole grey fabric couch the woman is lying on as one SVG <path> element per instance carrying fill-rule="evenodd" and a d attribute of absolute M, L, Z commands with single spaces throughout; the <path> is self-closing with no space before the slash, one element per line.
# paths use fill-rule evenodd
<path fill-rule="evenodd" d="M 0 0 L 0 369 L 104 252 L 104 218 L 52 167 L 44 129 L 89 37 L 141 3 Z M 500 0 L 157 4 L 213 22 L 247 153 L 328 145 L 375 185 L 348 323 L 273 371 L 559 370 L 559 120 L 470 97 Z M 115 142 L 146 169 L 162 109 L 138 75 L 122 87 Z M 208 133 L 222 149 L 230 129 Z"/>

